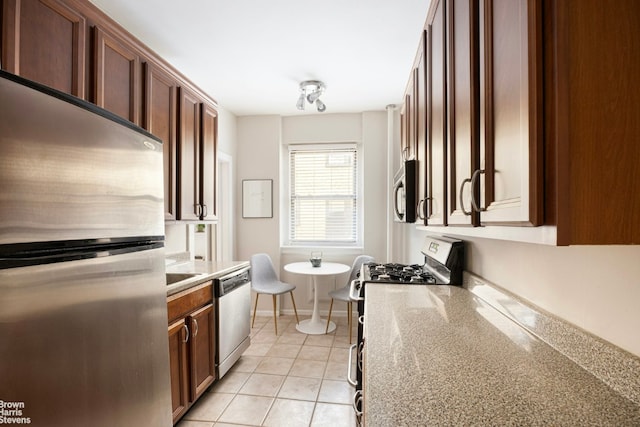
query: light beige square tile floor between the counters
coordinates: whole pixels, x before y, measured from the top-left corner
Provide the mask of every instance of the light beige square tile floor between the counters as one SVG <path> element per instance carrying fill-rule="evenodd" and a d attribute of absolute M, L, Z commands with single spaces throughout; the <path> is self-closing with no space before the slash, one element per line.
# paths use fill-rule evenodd
<path fill-rule="evenodd" d="M 280 316 L 276 336 L 273 317 L 256 317 L 251 346 L 177 427 L 355 427 L 347 318 L 332 320 L 334 332 L 306 335 Z"/>

